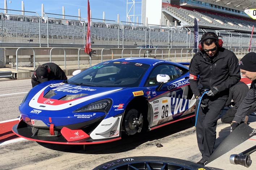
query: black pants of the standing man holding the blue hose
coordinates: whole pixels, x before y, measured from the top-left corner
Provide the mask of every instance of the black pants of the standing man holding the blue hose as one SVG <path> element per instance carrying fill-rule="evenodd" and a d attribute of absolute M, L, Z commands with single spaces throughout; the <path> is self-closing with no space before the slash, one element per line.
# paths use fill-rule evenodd
<path fill-rule="evenodd" d="M 228 95 L 212 97 L 209 99 L 208 107 L 199 107 L 196 123 L 196 137 L 199 150 L 204 160 L 208 160 L 213 153 L 216 141 L 217 121 L 227 98 Z"/>

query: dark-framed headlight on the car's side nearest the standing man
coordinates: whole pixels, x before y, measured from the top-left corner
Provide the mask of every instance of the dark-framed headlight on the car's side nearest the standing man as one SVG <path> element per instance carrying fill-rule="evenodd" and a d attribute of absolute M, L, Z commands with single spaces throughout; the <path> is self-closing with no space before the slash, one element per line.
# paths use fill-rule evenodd
<path fill-rule="evenodd" d="M 105 112 L 107 113 L 112 105 L 111 99 L 103 99 L 86 106 L 80 107 L 73 112 Z"/>

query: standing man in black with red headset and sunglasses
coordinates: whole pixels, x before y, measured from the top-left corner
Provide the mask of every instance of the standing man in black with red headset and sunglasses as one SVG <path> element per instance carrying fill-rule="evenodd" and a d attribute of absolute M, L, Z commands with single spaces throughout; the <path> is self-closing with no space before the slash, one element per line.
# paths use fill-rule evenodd
<path fill-rule="evenodd" d="M 199 42 L 200 51 L 189 64 L 189 83 L 196 99 L 199 100 L 204 93 L 200 87 L 210 87 L 201 105 L 197 106 L 196 137 L 202 153 L 202 159 L 197 164 L 202 165 L 213 153 L 217 121 L 229 97 L 229 88 L 241 79 L 236 55 L 223 48 L 222 44 L 216 33 L 204 33 Z"/>

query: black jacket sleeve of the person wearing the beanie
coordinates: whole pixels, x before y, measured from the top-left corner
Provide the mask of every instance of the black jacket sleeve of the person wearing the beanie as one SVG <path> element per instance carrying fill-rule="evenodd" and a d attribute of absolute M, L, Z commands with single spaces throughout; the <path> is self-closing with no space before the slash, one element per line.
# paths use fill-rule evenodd
<path fill-rule="evenodd" d="M 256 101 L 256 80 L 253 80 L 246 97 L 243 99 L 243 102 L 239 105 L 235 113 L 235 117 L 233 121 L 236 121 L 238 124 L 240 124 L 244 116 L 247 114 L 248 110 L 251 108 L 253 104 L 255 104 L 255 101 Z"/>

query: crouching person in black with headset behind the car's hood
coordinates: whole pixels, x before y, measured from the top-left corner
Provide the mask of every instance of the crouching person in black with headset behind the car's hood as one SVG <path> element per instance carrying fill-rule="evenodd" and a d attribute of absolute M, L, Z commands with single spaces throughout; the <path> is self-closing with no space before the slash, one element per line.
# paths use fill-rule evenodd
<path fill-rule="evenodd" d="M 65 72 L 55 63 L 45 63 L 34 70 L 31 78 L 32 87 L 50 80 L 67 80 Z"/>

